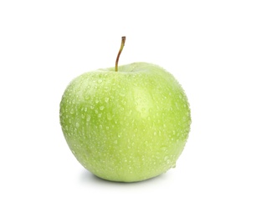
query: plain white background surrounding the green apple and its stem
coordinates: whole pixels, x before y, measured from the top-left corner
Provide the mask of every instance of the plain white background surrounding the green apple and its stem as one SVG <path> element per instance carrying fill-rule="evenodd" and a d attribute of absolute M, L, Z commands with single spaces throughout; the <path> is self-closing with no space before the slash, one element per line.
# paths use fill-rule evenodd
<path fill-rule="evenodd" d="M 1 1 L 0 216 L 256 216 L 255 1 Z M 185 89 L 177 168 L 134 184 L 74 159 L 59 102 L 81 73 L 145 61 Z"/>

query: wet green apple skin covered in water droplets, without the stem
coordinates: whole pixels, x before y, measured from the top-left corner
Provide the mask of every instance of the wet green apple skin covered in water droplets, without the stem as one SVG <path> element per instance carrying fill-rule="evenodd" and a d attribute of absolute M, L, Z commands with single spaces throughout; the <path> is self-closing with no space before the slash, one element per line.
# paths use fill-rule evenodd
<path fill-rule="evenodd" d="M 101 179 L 119 182 L 150 179 L 175 167 L 191 125 L 181 85 L 151 63 L 74 78 L 59 115 L 79 163 Z"/>

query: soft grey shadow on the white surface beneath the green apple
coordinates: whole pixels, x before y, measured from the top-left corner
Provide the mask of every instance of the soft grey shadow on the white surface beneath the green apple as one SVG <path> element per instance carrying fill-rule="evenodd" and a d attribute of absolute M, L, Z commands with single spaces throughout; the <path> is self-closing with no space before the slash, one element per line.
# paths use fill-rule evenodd
<path fill-rule="evenodd" d="M 170 179 L 171 175 L 171 179 Z M 153 177 L 151 179 L 146 179 L 142 181 L 136 181 L 136 182 L 117 182 L 117 181 L 110 181 L 106 179 L 101 179 L 100 177 L 96 176 L 95 174 L 90 173 L 88 170 L 83 169 L 80 175 L 80 181 L 82 184 L 86 183 L 92 183 L 92 184 L 107 184 L 107 185 L 125 185 L 125 186 L 131 186 L 131 185 L 140 185 L 140 184 L 152 184 L 156 182 L 163 182 L 168 179 L 169 181 L 172 181 L 173 179 L 173 174 L 172 174 L 172 169 L 168 171 L 168 175 L 165 174 L 160 174 L 156 177 Z"/>

